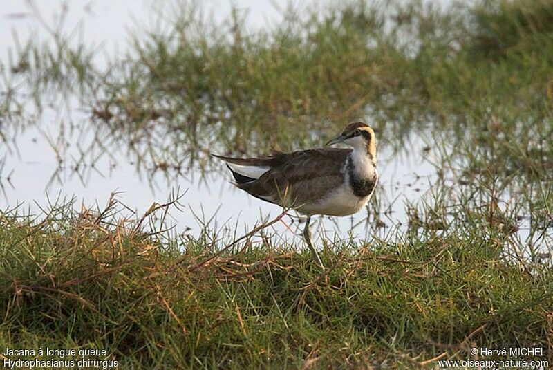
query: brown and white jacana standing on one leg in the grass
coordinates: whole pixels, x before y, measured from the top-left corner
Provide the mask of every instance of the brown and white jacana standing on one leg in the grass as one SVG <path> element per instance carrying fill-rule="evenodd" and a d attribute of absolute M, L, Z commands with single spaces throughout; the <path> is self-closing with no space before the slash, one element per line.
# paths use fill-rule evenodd
<path fill-rule="evenodd" d="M 332 147 L 339 143 L 350 148 Z M 378 181 L 375 132 L 364 122 L 348 124 L 322 148 L 273 151 L 260 158 L 213 156 L 226 163 L 238 189 L 307 217 L 303 239 L 323 270 L 311 241 L 311 217 L 357 213 L 373 196 Z"/>

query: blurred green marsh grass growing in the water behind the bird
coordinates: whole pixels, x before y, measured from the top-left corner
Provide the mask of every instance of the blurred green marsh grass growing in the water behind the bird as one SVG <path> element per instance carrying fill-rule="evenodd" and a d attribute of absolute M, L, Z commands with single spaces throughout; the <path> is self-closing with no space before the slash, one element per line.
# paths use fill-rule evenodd
<path fill-rule="evenodd" d="M 524 177 L 550 181 L 552 8 L 545 0 L 451 10 L 351 1 L 248 33 L 238 12 L 211 24 L 177 4 L 105 71 L 92 62 L 96 48 L 72 46 L 74 33 L 57 31 L 54 50 L 31 40 L 6 66 L 6 91 L 26 82 L 39 106 L 50 91 L 79 96 L 97 146 L 123 144 L 148 169 L 205 167 L 214 150 L 321 145 L 361 119 L 382 146 L 438 131 L 464 144 L 449 150 L 456 159 L 480 151 L 472 167 L 524 166 Z M 12 95 L 3 110 L 17 122 Z"/>

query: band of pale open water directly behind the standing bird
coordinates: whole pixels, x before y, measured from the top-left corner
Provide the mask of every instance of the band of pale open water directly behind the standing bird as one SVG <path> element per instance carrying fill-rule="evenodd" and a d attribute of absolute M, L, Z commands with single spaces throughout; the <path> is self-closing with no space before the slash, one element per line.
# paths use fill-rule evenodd
<path fill-rule="evenodd" d="M 129 140 L 91 120 L 88 112 L 73 111 L 68 120 L 59 118 L 59 111 L 53 108 L 44 109 L 39 124 L 19 133 L 13 144 L 5 147 L 3 171 L 10 169 L 12 187 L 3 188 L 4 207 L 31 200 L 40 204 L 59 194 L 77 196 L 90 205 L 102 203 L 115 191 L 122 203 L 140 212 L 180 187 L 187 191 L 182 198 L 187 210 L 173 214 L 173 222 L 194 232 L 201 223 L 191 212 L 203 214 L 204 219 L 216 215 L 217 222 L 232 228 L 236 224 L 248 228 L 260 218 L 281 212 L 279 207 L 235 189 L 223 166 L 208 161 L 209 156 L 176 162 L 182 151 L 189 151 L 179 145 L 182 133 L 160 134 L 152 129 L 150 135 L 144 130 L 140 138 Z M 325 141 L 320 138 L 321 145 Z M 353 228 L 357 236 L 366 237 L 375 231 L 370 228 L 375 219 L 381 227 L 405 224 L 404 199 L 417 201 L 435 176 L 431 151 L 426 147 L 417 137 L 398 153 L 379 147 L 377 202 L 351 218 L 324 217 L 317 230 L 331 235 Z M 297 223 L 289 221 L 290 225 Z"/>

